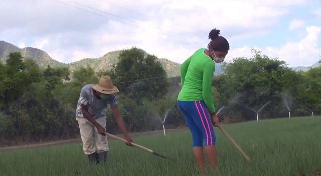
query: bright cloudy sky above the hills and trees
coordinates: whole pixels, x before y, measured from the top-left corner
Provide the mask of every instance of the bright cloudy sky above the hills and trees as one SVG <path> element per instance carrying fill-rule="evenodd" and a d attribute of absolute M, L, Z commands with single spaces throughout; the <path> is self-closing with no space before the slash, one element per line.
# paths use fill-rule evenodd
<path fill-rule="evenodd" d="M 0 17 L 0 40 L 64 63 L 132 46 L 182 63 L 214 28 L 230 43 L 227 62 L 252 48 L 289 67 L 321 58 L 320 0 L 2 0 Z"/>

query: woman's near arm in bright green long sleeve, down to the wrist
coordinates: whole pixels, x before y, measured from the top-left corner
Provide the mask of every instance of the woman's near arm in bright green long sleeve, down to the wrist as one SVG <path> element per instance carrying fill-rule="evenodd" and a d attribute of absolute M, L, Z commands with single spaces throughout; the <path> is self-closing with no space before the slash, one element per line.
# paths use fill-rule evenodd
<path fill-rule="evenodd" d="M 215 112 L 212 93 L 212 78 L 215 71 L 213 61 L 208 61 L 203 65 L 203 99 L 210 113 Z"/>

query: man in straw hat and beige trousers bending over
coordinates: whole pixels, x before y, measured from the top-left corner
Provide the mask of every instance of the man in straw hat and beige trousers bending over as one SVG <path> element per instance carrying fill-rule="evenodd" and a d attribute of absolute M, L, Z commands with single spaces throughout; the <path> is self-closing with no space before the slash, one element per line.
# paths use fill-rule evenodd
<path fill-rule="evenodd" d="M 109 76 L 101 76 L 96 85 L 87 84 L 80 92 L 76 109 L 76 120 L 79 124 L 83 151 L 88 155 L 89 161 L 98 163 L 107 160 L 108 141 L 105 136 L 106 114 L 108 104 L 111 106 L 114 118 L 131 146 L 131 138 L 120 115 L 118 103 L 114 93 L 118 93 L 117 87 Z"/>

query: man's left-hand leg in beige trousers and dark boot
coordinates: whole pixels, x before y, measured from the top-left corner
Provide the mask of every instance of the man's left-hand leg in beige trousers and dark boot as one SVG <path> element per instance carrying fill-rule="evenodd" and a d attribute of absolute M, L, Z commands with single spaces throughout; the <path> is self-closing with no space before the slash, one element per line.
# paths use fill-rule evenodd
<path fill-rule="evenodd" d="M 94 125 L 86 118 L 77 118 L 79 124 L 82 147 L 85 154 L 88 155 L 91 163 L 98 163 L 98 155 L 95 148 Z"/>

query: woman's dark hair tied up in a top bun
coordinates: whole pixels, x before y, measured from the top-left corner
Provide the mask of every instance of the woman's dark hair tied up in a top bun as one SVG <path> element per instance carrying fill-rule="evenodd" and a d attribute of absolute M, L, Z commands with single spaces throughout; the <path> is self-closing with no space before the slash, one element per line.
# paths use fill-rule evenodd
<path fill-rule="evenodd" d="M 211 42 L 208 44 L 208 49 L 212 49 L 214 51 L 226 52 L 230 49 L 229 42 L 221 36 L 220 30 L 216 28 L 213 29 L 209 34 L 209 39 Z"/>

